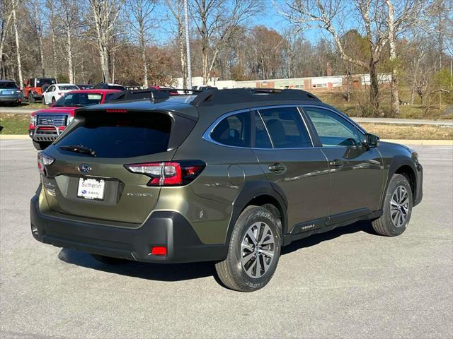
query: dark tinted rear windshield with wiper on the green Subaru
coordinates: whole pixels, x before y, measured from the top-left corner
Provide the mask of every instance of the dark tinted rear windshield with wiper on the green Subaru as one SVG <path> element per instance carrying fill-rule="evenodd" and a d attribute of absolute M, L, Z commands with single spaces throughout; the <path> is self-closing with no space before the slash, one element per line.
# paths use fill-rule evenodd
<path fill-rule="evenodd" d="M 96 157 L 138 157 L 166 152 L 171 121 L 168 115 L 157 112 L 92 112 L 81 126 L 67 134 L 56 146 L 83 145 L 94 150 Z M 59 151 L 90 156 L 61 149 Z"/>

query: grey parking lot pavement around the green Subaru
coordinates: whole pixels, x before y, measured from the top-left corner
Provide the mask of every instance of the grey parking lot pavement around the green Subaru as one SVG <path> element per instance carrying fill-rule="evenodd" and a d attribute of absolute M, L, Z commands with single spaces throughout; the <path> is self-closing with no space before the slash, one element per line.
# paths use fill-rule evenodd
<path fill-rule="evenodd" d="M 302 239 L 267 287 L 239 293 L 212 263 L 109 266 L 36 242 L 36 152 L 1 140 L 0 338 L 452 338 L 453 148 L 416 149 L 424 198 L 405 233 Z"/>

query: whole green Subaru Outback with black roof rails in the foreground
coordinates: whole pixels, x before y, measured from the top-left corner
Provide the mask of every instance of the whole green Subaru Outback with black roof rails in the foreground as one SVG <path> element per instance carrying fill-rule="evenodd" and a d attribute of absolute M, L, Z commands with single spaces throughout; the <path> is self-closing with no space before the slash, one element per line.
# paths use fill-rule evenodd
<path fill-rule="evenodd" d="M 101 261 L 214 261 L 226 287 L 254 291 L 282 246 L 357 220 L 396 236 L 422 199 L 417 153 L 302 90 L 121 95 L 77 110 L 38 153 L 38 241 Z"/>

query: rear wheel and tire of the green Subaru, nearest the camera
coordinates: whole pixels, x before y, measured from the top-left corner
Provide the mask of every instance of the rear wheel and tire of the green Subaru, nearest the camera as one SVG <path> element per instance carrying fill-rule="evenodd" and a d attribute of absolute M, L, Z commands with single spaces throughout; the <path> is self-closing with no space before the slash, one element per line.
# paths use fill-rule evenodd
<path fill-rule="evenodd" d="M 260 234 L 256 235 L 258 227 Z M 258 248 L 256 237 L 262 244 Z M 234 225 L 226 259 L 215 265 L 219 279 L 231 290 L 260 290 L 275 273 L 281 243 L 282 230 L 275 215 L 263 207 L 248 206 Z"/>

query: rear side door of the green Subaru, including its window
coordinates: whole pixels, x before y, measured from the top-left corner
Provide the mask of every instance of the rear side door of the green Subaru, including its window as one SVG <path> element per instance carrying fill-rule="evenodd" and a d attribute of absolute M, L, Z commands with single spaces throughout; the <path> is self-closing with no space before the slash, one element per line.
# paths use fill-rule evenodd
<path fill-rule="evenodd" d="M 274 107 L 254 115 L 253 152 L 267 179 L 287 198 L 289 230 L 315 219 L 321 219 L 316 227 L 322 226 L 328 216 L 328 165 L 321 149 L 312 147 L 299 110 Z"/>

